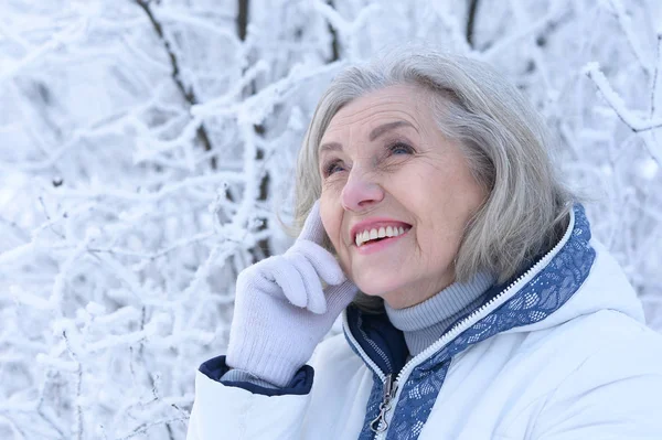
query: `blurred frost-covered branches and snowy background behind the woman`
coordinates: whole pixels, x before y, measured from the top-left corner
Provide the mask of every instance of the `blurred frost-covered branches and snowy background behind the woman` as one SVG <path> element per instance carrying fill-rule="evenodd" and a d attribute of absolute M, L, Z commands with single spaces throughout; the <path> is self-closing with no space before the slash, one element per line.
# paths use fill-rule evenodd
<path fill-rule="evenodd" d="M 184 439 L 318 97 L 405 41 L 532 99 L 662 330 L 659 0 L 2 0 L 0 438 Z"/>

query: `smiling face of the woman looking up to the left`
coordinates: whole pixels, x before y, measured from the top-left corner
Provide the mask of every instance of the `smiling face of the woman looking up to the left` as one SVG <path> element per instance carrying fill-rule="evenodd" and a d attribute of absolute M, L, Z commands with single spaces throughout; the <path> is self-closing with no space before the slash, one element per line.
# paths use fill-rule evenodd
<path fill-rule="evenodd" d="M 357 98 L 320 143 L 320 214 L 340 264 L 395 309 L 455 280 L 465 227 L 485 197 L 458 144 L 437 129 L 428 95 L 398 85 Z"/>

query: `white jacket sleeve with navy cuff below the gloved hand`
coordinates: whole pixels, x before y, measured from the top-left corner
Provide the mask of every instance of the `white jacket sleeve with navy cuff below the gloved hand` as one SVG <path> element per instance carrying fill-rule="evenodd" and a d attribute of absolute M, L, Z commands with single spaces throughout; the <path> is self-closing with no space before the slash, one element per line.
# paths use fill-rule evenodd
<path fill-rule="evenodd" d="M 299 438 L 313 380 L 312 367 L 301 367 L 285 388 L 221 382 L 228 371 L 225 356 L 214 357 L 195 374 L 195 401 L 188 440 Z"/>

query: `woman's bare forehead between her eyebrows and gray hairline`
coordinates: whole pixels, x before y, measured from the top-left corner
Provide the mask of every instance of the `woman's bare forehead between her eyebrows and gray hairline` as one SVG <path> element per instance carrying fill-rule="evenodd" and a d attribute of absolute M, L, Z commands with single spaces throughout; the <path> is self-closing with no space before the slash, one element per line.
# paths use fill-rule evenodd
<path fill-rule="evenodd" d="M 323 138 L 341 131 L 367 131 L 385 121 L 404 120 L 418 128 L 427 119 L 420 88 L 398 85 L 372 92 L 342 107 L 329 122 Z"/>

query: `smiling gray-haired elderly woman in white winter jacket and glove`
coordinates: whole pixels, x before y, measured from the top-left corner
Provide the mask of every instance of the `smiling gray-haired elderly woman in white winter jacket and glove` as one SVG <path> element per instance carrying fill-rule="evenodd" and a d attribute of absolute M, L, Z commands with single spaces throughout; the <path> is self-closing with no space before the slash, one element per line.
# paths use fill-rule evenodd
<path fill-rule="evenodd" d="M 300 152 L 299 238 L 239 275 L 189 439 L 662 439 L 662 339 L 549 143 L 477 61 L 341 73 Z"/>

